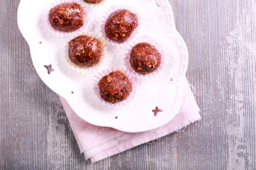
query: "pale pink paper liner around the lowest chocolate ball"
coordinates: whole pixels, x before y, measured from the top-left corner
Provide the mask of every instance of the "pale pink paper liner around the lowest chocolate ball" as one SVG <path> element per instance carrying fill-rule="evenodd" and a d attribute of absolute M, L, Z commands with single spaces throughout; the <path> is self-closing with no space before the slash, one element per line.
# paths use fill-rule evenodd
<path fill-rule="evenodd" d="M 100 79 L 102 79 L 102 77 L 110 74 L 112 71 L 117 71 L 117 70 L 122 71 L 125 74 L 125 76 L 128 77 L 128 79 L 130 80 L 130 82 L 133 86 L 132 87 L 133 90 L 131 91 L 130 96 L 126 100 L 113 104 L 110 102 L 106 102 L 105 100 L 102 99 L 102 97 L 99 94 L 98 83 L 99 83 Z M 94 75 L 93 76 L 93 91 L 94 91 L 94 94 L 97 96 L 97 98 L 101 101 L 102 105 L 108 105 L 109 107 L 113 107 L 114 109 L 116 109 L 116 108 L 119 109 L 119 108 L 123 108 L 127 105 L 130 105 L 131 101 L 134 100 L 134 96 L 136 94 L 136 88 L 134 86 L 134 79 L 133 79 L 133 77 L 131 77 L 131 74 L 129 73 L 129 71 L 125 71 L 123 69 L 118 69 L 118 68 L 107 69 L 107 70 L 98 72 L 96 75 Z"/>

